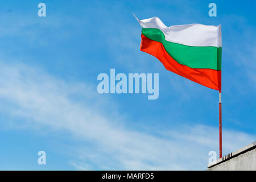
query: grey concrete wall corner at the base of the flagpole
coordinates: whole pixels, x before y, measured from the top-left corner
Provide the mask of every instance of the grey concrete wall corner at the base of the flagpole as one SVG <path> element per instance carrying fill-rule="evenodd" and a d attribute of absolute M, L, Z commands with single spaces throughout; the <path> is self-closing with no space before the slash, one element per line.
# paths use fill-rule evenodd
<path fill-rule="evenodd" d="M 208 171 L 254 170 L 256 171 L 256 142 L 232 152 L 216 162 L 208 164 Z"/>

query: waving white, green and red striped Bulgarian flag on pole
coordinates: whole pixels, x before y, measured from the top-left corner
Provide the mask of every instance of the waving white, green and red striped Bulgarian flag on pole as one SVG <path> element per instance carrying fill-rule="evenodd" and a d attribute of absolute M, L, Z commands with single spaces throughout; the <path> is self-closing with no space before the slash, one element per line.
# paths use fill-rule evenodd
<path fill-rule="evenodd" d="M 158 17 L 137 20 L 142 27 L 141 51 L 155 56 L 168 71 L 221 90 L 220 25 L 167 27 Z"/>

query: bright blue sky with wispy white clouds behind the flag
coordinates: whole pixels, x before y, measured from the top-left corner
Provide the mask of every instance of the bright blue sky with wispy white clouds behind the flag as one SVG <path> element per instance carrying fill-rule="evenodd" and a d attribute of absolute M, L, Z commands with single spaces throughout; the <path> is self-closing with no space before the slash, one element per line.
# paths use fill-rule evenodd
<path fill-rule="evenodd" d="M 44 2 L 47 16 L 38 16 Z M 208 5 L 217 5 L 217 17 Z M 218 92 L 139 51 L 139 19 L 222 26 L 223 153 L 256 140 L 252 1 L 4 1 L 0 169 L 204 170 L 218 155 Z M 159 98 L 99 94 L 97 76 L 159 73 Z M 39 165 L 38 151 L 47 164 Z"/>

